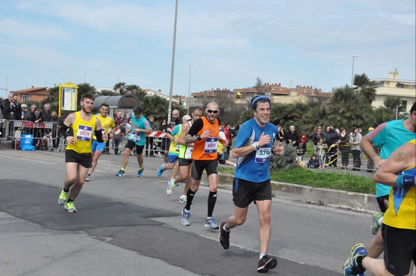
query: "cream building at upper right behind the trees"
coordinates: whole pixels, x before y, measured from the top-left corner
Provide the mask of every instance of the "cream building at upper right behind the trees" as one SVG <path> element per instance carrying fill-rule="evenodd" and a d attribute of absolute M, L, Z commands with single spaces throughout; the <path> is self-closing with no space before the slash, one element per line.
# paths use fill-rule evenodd
<path fill-rule="evenodd" d="M 400 80 L 399 71 L 388 73 L 388 78 L 372 79 L 376 83 L 376 99 L 372 102 L 373 107 L 382 107 L 383 101 L 388 96 L 395 96 L 401 98 L 400 110 L 410 111 L 413 103 L 416 100 L 416 81 L 415 80 Z"/>

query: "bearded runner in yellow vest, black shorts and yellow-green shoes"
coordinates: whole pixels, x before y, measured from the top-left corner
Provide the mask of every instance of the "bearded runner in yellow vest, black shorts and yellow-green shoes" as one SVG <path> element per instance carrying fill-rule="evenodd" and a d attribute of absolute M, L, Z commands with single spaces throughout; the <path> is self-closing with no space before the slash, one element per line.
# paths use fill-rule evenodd
<path fill-rule="evenodd" d="M 65 150 L 65 167 L 67 177 L 64 180 L 64 188 L 58 198 L 58 203 L 64 205 L 68 212 L 76 212 L 73 201 L 76 199 L 91 167 L 91 143 L 95 134 L 98 142 L 108 140 L 107 134 L 101 132 L 101 122 L 91 115 L 94 97 L 90 94 L 83 95 L 80 101 L 81 110 L 69 114 L 60 127 L 60 134 L 67 140 Z M 67 134 L 67 129 L 70 134 Z M 71 193 L 69 194 L 69 190 Z M 69 196 L 68 196 L 69 194 Z"/>

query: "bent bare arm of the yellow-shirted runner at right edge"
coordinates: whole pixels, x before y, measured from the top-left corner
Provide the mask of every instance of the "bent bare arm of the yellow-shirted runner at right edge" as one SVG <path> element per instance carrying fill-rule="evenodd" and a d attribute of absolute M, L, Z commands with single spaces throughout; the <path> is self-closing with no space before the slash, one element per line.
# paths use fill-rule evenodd
<path fill-rule="evenodd" d="M 374 181 L 389 186 L 397 186 L 397 174 L 403 169 L 410 169 L 415 166 L 415 156 L 415 145 L 410 142 L 402 145 L 381 165 L 374 175 Z"/>

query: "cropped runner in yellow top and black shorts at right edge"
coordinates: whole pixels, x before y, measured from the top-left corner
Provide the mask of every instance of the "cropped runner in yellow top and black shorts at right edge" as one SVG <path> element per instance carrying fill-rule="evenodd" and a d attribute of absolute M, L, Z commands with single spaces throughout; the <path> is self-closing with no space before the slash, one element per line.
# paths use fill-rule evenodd
<path fill-rule="evenodd" d="M 412 275 L 416 264 L 416 139 L 392 153 L 374 175 L 374 181 L 389 185 L 390 200 L 385 211 L 383 259 L 368 256 L 363 243 L 357 243 L 343 266 L 346 276 Z M 412 264 L 413 261 L 413 264 Z"/>

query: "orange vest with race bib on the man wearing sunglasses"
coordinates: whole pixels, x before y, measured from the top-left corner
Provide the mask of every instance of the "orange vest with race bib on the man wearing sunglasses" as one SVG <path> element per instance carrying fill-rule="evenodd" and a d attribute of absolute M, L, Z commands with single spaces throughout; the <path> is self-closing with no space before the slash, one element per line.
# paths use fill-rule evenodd
<path fill-rule="evenodd" d="M 198 131 L 201 135 L 205 129 L 211 131 L 211 137 L 202 140 L 197 140 L 193 143 L 192 159 L 194 160 L 216 160 L 218 136 L 220 134 L 220 124 L 216 118 L 213 123 L 209 122 L 207 117 L 202 117 L 203 127 Z"/>

